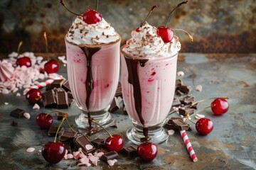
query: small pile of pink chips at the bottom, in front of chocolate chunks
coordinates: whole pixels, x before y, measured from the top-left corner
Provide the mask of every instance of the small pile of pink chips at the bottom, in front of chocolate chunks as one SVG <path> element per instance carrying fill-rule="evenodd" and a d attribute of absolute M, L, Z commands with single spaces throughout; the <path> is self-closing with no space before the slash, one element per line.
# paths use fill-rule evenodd
<path fill-rule="evenodd" d="M 86 145 L 86 148 L 92 148 L 92 145 Z M 73 154 L 68 154 L 68 150 L 65 152 L 64 159 L 78 159 L 78 166 L 91 166 L 92 164 L 97 166 L 97 163 L 100 161 L 100 157 L 104 152 L 95 152 L 93 154 L 89 153 L 85 155 L 82 152 L 82 148 L 79 148 L 77 152 L 73 152 Z M 117 162 L 117 159 L 109 160 L 107 163 L 110 166 L 113 166 L 114 163 Z"/>

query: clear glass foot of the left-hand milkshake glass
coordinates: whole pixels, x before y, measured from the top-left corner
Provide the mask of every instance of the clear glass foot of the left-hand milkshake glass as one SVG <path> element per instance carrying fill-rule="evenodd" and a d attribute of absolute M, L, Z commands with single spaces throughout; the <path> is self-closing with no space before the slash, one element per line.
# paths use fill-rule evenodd
<path fill-rule="evenodd" d="M 108 111 L 97 111 L 90 112 L 91 118 L 95 120 L 97 123 L 100 123 L 104 128 L 108 128 L 114 124 L 116 124 L 116 120 L 114 115 L 109 113 Z M 75 117 L 75 123 L 78 125 L 78 128 L 86 128 L 89 127 L 88 119 L 87 119 L 87 111 L 81 111 L 80 115 Z M 93 125 L 92 126 L 97 126 Z"/>

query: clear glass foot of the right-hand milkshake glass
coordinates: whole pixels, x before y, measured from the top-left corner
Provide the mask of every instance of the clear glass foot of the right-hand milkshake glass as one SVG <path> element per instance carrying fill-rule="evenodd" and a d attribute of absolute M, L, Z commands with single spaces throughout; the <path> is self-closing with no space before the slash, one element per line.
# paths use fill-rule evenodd
<path fill-rule="evenodd" d="M 168 132 L 164 130 L 161 126 L 159 127 L 149 127 L 149 142 L 154 142 L 155 144 L 159 144 L 162 142 L 166 142 L 169 138 Z M 143 130 L 141 126 L 134 125 L 133 128 L 129 128 L 127 130 L 127 137 L 134 144 L 139 145 L 142 143 L 141 139 L 145 136 L 143 135 Z"/>

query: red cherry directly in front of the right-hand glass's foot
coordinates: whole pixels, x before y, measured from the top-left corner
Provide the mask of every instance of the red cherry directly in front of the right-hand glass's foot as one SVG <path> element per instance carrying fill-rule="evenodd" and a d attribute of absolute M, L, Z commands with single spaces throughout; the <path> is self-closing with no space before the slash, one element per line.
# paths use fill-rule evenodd
<path fill-rule="evenodd" d="M 139 145 L 137 152 L 144 162 L 151 162 L 157 155 L 157 147 L 154 143 L 145 142 Z"/>

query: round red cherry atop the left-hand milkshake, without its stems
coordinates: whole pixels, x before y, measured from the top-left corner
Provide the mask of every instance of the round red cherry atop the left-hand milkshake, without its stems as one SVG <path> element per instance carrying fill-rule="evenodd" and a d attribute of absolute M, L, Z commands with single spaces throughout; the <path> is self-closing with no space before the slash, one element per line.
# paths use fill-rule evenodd
<path fill-rule="evenodd" d="M 93 9 L 88 9 L 87 11 L 85 11 L 82 17 L 82 20 L 85 21 L 85 23 L 87 24 L 98 23 L 102 21 L 102 14 L 98 13 Z"/>

